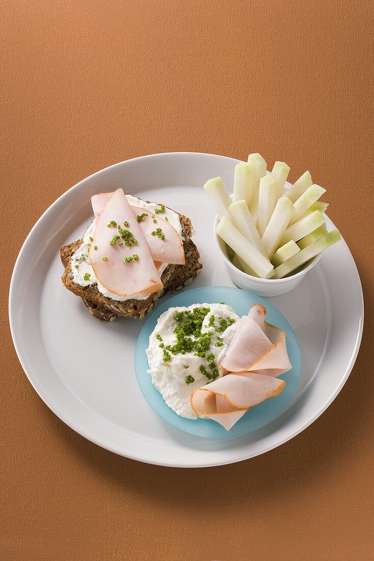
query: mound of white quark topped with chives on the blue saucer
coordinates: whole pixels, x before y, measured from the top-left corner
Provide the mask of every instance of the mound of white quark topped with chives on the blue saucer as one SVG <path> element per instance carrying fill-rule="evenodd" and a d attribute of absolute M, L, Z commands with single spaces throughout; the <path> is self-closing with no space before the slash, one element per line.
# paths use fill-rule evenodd
<path fill-rule="evenodd" d="M 226 304 L 173 307 L 160 315 L 146 350 L 152 383 L 181 417 L 196 419 L 191 393 L 220 378 L 239 316 Z"/>

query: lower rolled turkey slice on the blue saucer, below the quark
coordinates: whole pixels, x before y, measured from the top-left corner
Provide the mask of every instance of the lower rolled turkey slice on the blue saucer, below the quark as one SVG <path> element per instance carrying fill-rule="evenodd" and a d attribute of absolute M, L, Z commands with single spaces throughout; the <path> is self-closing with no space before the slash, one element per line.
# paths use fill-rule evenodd
<path fill-rule="evenodd" d="M 197 417 L 207 417 L 230 430 L 250 407 L 278 396 L 284 387 L 285 381 L 273 376 L 228 374 L 195 390 L 191 407 Z"/>

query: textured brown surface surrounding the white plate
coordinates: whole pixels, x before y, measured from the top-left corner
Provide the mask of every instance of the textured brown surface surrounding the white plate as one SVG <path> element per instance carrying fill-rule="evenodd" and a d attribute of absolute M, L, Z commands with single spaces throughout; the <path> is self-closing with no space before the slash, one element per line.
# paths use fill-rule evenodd
<path fill-rule="evenodd" d="M 0 558 L 372 559 L 371 3 L 3 0 L 0 17 Z M 59 195 L 178 150 L 259 151 L 291 180 L 308 167 L 366 299 L 361 351 L 324 415 L 264 456 L 201 470 L 73 433 L 27 381 L 6 314 L 21 243 Z"/>

